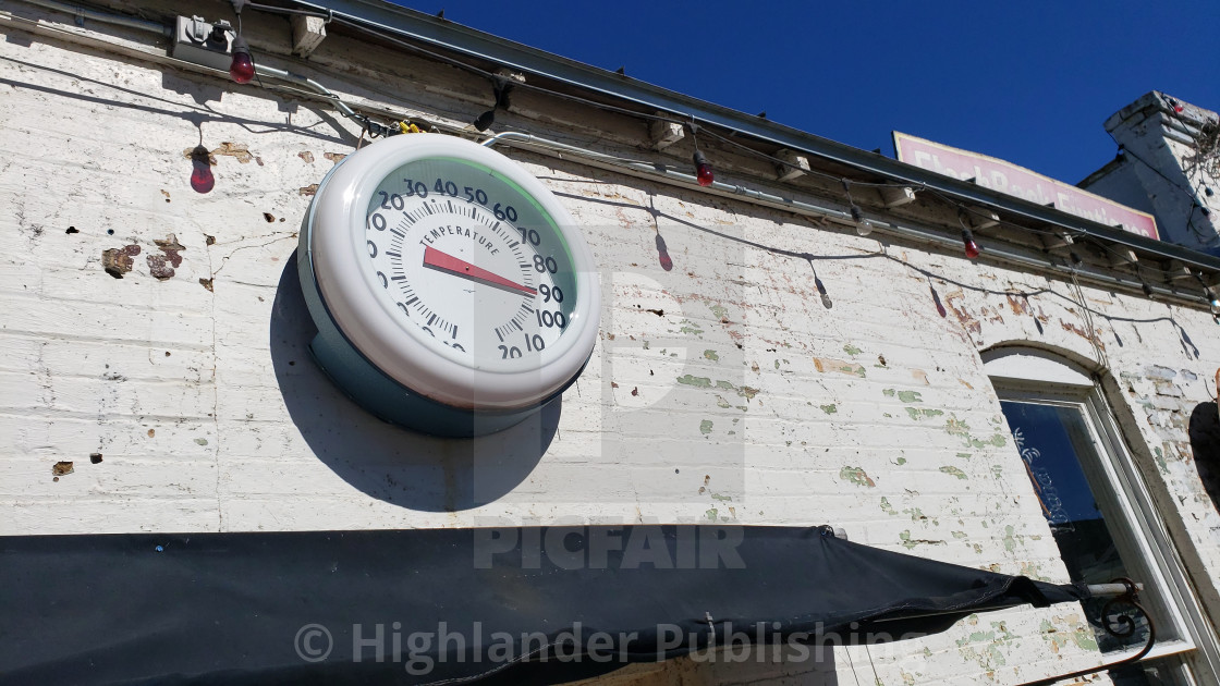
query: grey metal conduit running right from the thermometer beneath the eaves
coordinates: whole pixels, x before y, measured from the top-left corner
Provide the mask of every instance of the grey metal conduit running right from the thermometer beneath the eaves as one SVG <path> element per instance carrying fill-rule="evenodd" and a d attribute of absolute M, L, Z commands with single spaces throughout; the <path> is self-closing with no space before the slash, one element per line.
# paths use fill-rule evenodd
<path fill-rule="evenodd" d="M 555 140 L 548 140 L 545 138 L 539 138 L 528 133 L 521 133 L 516 131 L 506 131 L 497 133 L 495 135 L 482 142 L 482 145 L 490 148 L 498 143 L 508 144 L 521 144 L 526 148 L 540 148 L 542 150 L 550 150 L 553 153 L 570 153 L 572 155 L 580 156 L 584 160 L 593 162 L 595 166 L 604 166 L 610 168 L 617 168 L 633 173 L 634 176 L 643 176 L 648 178 L 656 178 L 660 181 L 670 182 L 675 186 L 688 187 L 693 190 L 715 190 L 721 195 L 730 197 L 744 197 L 759 205 L 765 205 L 769 208 L 778 210 L 788 210 L 800 215 L 813 216 L 816 218 L 830 218 L 848 226 L 854 226 L 855 222 L 852 220 L 852 215 L 843 210 L 836 210 L 833 208 L 825 208 L 820 205 L 814 205 L 811 203 L 804 203 L 800 200 L 794 200 L 791 198 L 783 198 L 780 195 L 773 195 L 762 190 L 756 190 L 753 188 L 747 188 L 744 186 L 734 186 L 730 183 L 722 183 L 714 181 L 710 186 L 699 186 L 698 179 L 693 175 L 677 172 L 666 168 L 660 165 L 651 165 L 648 162 L 637 162 L 632 160 L 623 160 L 614 155 L 606 155 L 604 153 L 598 153 L 595 150 L 587 150 L 577 145 L 569 145 L 566 143 L 559 143 Z M 562 155 L 558 155 L 562 157 Z M 961 249 L 961 240 L 959 238 L 943 236 L 935 229 L 919 228 L 911 225 L 897 223 L 893 221 L 875 218 L 872 216 L 866 217 L 874 226 L 874 231 L 882 231 L 894 236 L 900 236 L 905 238 L 914 238 L 916 240 L 922 240 L 925 243 L 933 243 L 937 245 L 943 245 L 953 249 Z M 977 237 L 976 237 L 977 239 Z M 1009 262 L 1020 264 L 1030 267 L 1047 269 L 1054 272 L 1071 275 L 1093 281 L 1097 283 L 1104 283 L 1109 286 L 1119 286 L 1122 288 L 1130 288 L 1132 291 L 1141 291 L 1143 284 L 1139 281 L 1125 280 L 1110 273 L 1097 271 L 1087 267 L 1070 267 L 1068 265 L 1060 265 L 1050 260 L 1043 260 L 1032 258 L 1030 255 L 1022 255 L 1020 253 L 1014 253 L 1011 250 L 1005 250 L 1004 248 L 989 244 L 986 240 L 981 242 L 983 245 L 983 254 L 991 258 L 998 258 L 1000 260 L 1006 260 Z M 1170 298 L 1177 298 L 1190 303 L 1207 303 L 1205 298 L 1192 297 L 1175 291 L 1170 291 L 1163 286 L 1152 286 L 1154 293 L 1168 295 Z"/>

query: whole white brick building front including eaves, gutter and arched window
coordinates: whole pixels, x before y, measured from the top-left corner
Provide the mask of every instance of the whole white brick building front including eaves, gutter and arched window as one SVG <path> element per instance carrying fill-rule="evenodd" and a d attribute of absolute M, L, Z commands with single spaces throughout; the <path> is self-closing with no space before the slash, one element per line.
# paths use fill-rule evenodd
<path fill-rule="evenodd" d="M 1158 644 L 1088 682 L 1215 682 L 1215 258 L 406 10 L 248 7 L 255 63 L 288 74 L 235 84 L 174 56 L 176 4 L 105 5 L 0 9 L 4 536 L 831 524 L 1036 580 L 1125 571 Z M 492 146 L 588 242 L 597 344 L 539 417 L 405 431 L 311 359 L 299 232 L 384 144 L 367 121 L 522 133 Z M 1026 684 L 1131 652 L 1089 621 L 1014 608 L 600 681 Z"/>

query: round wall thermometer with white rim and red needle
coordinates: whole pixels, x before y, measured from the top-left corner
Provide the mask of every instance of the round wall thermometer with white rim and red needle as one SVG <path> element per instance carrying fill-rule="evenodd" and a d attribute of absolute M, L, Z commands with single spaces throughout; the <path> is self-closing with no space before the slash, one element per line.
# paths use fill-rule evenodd
<path fill-rule="evenodd" d="M 511 426 L 556 398 L 597 339 L 593 256 L 516 162 L 396 135 L 322 179 L 298 250 L 314 358 L 379 417 L 440 436 Z"/>

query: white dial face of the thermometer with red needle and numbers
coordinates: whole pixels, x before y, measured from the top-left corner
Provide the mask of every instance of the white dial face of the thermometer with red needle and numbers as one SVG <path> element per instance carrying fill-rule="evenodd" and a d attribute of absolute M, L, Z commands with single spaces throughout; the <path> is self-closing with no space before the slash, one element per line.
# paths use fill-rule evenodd
<path fill-rule="evenodd" d="M 356 239 L 382 308 L 438 354 L 517 371 L 565 347 L 578 297 L 567 243 L 499 172 L 459 159 L 407 162 L 377 184 Z"/>

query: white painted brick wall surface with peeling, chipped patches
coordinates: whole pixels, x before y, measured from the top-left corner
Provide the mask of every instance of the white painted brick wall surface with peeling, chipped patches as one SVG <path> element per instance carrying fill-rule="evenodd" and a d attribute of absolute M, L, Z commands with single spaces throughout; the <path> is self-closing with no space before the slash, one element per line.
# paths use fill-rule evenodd
<path fill-rule="evenodd" d="M 1083 323 L 1069 299 L 1028 299 L 1044 316 L 1039 333 L 1008 297 L 971 289 L 1066 295 L 1068 284 L 905 248 L 859 259 L 878 243 L 509 151 L 564 194 L 603 269 L 606 312 L 547 453 L 537 464 L 490 460 L 503 438 L 440 441 L 373 420 L 304 349 L 307 322 L 290 298 L 295 275 L 285 275 L 310 200 L 299 189 L 331 168 L 326 154 L 351 151 L 355 129 L 254 88 L 23 35 L 0 42 L 0 535 L 494 518 L 832 522 L 881 548 L 1068 580 L 978 350 L 1032 341 L 1091 358 L 1092 347 L 1070 330 Z M 200 140 L 244 145 L 251 159 L 217 154 L 216 187 L 198 194 L 184 150 Z M 806 261 L 665 216 L 656 226 L 675 267 L 662 272 L 650 203 L 727 237 L 853 258 L 814 264 L 833 308 L 822 306 Z M 170 233 L 183 261 L 157 281 L 145 258 Z M 142 251 L 117 280 L 101 253 L 124 245 Z M 948 317 L 904 261 L 939 276 L 932 284 Z M 1220 516 L 1175 424 L 1208 399 L 1204 381 L 1220 365 L 1215 325 L 1198 310 L 1086 293 L 1103 312 L 1161 320 L 1116 321 L 1113 332 L 1100 323 L 1099 336 L 1122 375 L 1120 400 L 1139 420 L 1133 428 L 1159 450 L 1166 519 L 1190 537 L 1204 574 L 1220 577 Z M 1190 332 L 1197 359 L 1165 317 Z M 1174 402 L 1143 409 L 1157 395 L 1153 365 L 1175 375 L 1176 420 Z M 1182 381 L 1190 375 L 1202 381 Z M 90 464 L 95 452 L 101 464 Z M 709 464 L 709 454 L 739 461 Z M 52 481 L 60 460 L 74 472 Z M 1082 621 L 1071 607 L 1016 609 L 871 654 L 839 649 L 830 664 L 675 660 L 638 673 L 654 682 L 871 684 L 875 669 L 882 684 L 1017 684 L 1096 664 Z"/>

